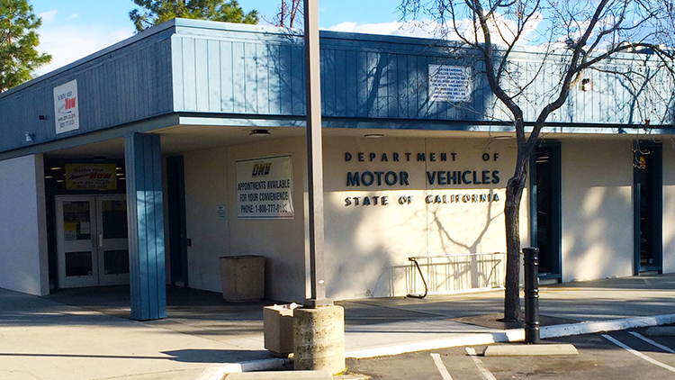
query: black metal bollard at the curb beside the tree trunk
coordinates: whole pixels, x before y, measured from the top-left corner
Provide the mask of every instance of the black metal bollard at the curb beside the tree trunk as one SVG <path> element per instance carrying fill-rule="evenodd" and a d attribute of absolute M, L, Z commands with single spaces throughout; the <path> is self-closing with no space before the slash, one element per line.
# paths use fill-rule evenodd
<path fill-rule="evenodd" d="M 524 248 L 525 342 L 539 343 L 539 249 Z"/>

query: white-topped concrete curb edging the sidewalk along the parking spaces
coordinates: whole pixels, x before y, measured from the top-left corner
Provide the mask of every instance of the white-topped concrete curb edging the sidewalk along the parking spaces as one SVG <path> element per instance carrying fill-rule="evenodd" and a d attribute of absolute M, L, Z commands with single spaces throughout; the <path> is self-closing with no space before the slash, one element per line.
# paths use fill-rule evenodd
<path fill-rule="evenodd" d="M 593 334 L 596 332 L 635 329 L 637 327 L 660 326 L 675 323 L 675 314 L 663 314 L 653 317 L 635 317 L 613 321 L 585 321 L 580 323 L 560 324 L 545 326 L 539 330 L 542 339 L 568 337 L 572 335 Z M 524 329 L 505 330 L 504 332 L 486 332 L 472 334 L 464 337 L 429 340 L 424 342 L 387 346 L 382 348 L 368 348 L 346 352 L 345 357 L 369 358 L 388 357 L 406 354 L 409 352 L 426 351 L 429 349 L 455 348 L 464 346 L 479 346 L 492 343 L 518 342 L 525 340 Z M 265 371 L 281 369 L 283 366 L 293 363 L 292 358 L 253 360 L 242 363 L 229 364 L 217 368 L 209 368 L 197 380 L 220 380 L 224 375 L 233 372 Z M 208 371 L 214 370 L 209 376 Z M 218 377 L 220 375 L 220 377 Z"/>

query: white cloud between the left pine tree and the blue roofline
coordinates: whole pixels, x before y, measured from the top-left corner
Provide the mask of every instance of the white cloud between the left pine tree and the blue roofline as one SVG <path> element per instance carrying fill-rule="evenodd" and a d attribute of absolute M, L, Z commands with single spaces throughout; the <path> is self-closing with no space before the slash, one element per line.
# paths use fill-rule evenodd
<path fill-rule="evenodd" d="M 57 68 L 103 50 L 133 35 L 133 28 L 107 30 L 100 25 L 62 25 L 40 28 L 40 52 L 51 54 L 51 63 L 35 71 L 35 75 Z"/>

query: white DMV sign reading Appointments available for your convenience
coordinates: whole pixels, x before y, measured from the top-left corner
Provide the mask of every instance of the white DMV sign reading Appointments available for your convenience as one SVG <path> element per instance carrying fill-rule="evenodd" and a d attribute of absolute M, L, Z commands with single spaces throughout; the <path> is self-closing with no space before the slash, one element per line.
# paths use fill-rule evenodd
<path fill-rule="evenodd" d="M 237 217 L 293 218 L 291 156 L 237 161 Z"/>

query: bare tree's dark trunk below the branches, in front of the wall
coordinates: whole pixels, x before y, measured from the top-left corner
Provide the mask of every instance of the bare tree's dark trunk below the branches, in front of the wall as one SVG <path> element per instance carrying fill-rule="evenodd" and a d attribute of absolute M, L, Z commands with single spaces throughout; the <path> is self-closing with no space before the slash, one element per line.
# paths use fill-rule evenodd
<path fill-rule="evenodd" d="M 504 321 L 522 321 L 523 312 L 520 308 L 520 200 L 527 176 L 527 159 L 529 155 L 523 151 L 525 147 L 518 147 L 516 171 L 509 179 L 506 188 L 506 204 L 504 217 L 506 219 L 507 237 L 507 273 L 504 295 Z"/>

